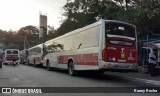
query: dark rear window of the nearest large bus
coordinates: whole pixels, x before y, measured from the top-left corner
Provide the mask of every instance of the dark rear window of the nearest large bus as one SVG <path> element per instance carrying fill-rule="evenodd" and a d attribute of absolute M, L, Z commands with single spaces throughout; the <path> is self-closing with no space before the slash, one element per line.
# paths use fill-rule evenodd
<path fill-rule="evenodd" d="M 132 46 L 136 40 L 135 27 L 120 22 L 106 22 L 105 36 L 110 44 Z"/>

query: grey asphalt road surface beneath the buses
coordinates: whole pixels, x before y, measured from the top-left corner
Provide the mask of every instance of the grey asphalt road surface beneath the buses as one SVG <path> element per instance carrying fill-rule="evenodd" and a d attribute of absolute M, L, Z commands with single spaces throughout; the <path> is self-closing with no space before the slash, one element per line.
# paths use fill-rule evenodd
<path fill-rule="evenodd" d="M 132 74 L 132 75 L 131 75 Z M 3 66 L 0 69 L 1 87 L 90 87 L 90 88 L 129 88 L 129 87 L 158 87 L 158 84 L 141 82 L 134 80 L 133 76 L 147 74 L 141 73 L 112 73 L 106 72 L 104 75 L 82 74 L 79 76 L 69 76 L 66 71 L 47 71 L 44 68 L 34 68 L 27 65 Z M 142 76 L 141 76 L 142 77 Z M 135 77 L 134 77 L 135 78 Z M 158 78 L 158 77 L 156 77 Z M 151 79 L 149 79 L 151 80 Z M 152 79 L 153 80 L 153 79 Z M 158 80 L 158 79 L 157 79 Z M 105 89 L 106 90 L 106 89 Z M 110 89 L 109 89 L 110 90 Z M 119 90 L 119 89 L 118 89 Z M 97 91 L 97 90 L 96 90 Z M 158 93 L 52 93 L 52 94 L 0 94 L 0 96 L 159 96 Z"/>

